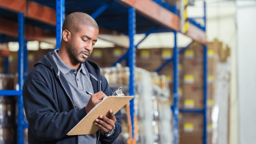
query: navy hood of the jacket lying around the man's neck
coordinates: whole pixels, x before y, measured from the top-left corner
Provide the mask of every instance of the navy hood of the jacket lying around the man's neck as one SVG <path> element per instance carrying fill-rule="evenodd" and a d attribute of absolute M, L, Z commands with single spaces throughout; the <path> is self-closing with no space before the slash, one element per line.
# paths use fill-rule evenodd
<path fill-rule="evenodd" d="M 57 64 L 55 63 L 54 59 L 52 58 L 52 54 L 53 54 L 53 52 L 49 52 L 46 56 L 44 55 L 41 60 L 39 60 L 37 63 L 34 64 L 34 67 L 39 64 L 42 64 L 49 70 L 51 70 L 51 68 L 53 68 L 54 74 L 58 75 L 59 69 L 58 69 Z M 98 66 L 97 63 L 87 59 L 82 64 L 85 64 L 85 67 L 87 68 L 87 70 L 90 74 L 92 74 L 94 77 L 96 77 L 98 79 L 100 78 L 100 67 Z"/>

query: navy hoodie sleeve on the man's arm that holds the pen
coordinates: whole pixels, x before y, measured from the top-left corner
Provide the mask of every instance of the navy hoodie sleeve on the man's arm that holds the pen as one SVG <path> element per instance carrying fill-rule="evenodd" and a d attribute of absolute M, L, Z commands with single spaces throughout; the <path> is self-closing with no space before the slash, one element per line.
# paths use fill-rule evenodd
<path fill-rule="evenodd" d="M 86 115 L 85 109 L 59 112 L 49 85 L 40 78 L 30 78 L 23 87 L 24 109 L 29 127 L 40 141 L 68 137 L 67 133 Z"/>

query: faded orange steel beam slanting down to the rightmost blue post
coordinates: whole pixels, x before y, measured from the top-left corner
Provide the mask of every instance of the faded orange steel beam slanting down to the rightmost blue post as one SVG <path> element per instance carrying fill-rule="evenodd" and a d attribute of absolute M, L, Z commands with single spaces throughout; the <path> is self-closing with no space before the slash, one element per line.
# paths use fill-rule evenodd
<path fill-rule="evenodd" d="M 144 15 L 148 19 L 169 29 L 180 31 L 180 18 L 169 10 L 163 8 L 152 0 L 116 0 L 117 2 L 127 6 L 133 6 L 137 12 Z M 188 32 L 183 33 L 191 37 L 195 41 L 207 44 L 206 34 L 193 24 L 189 24 Z"/>

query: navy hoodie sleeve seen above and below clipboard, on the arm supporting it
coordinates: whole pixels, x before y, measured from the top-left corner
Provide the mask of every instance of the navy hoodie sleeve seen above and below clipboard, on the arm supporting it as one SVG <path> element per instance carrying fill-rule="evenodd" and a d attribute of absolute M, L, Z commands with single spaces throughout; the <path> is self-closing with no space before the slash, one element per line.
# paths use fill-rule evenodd
<path fill-rule="evenodd" d="M 102 91 L 105 93 L 106 96 L 112 96 L 114 93 L 111 91 L 110 86 L 106 78 L 101 74 L 101 81 L 102 81 Z M 121 118 L 122 114 L 121 111 L 119 110 L 116 114 L 116 129 L 113 135 L 106 137 L 102 133 L 100 133 L 100 142 L 102 144 L 112 144 L 118 137 L 118 135 L 122 132 L 121 129 Z"/>

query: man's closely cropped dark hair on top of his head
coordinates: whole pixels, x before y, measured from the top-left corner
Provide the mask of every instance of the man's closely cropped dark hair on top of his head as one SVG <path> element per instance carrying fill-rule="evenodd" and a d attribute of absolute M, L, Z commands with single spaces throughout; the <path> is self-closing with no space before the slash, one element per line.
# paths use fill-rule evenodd
<path fill-rule="evenodd" d="M 74 34 L 80 31 L 83 25 L 99 29 L 98 24 L 96 23 L 93 17 L 86 13 L 74 12 L 69 14 L 65 18 L 64 23 L 62 25 L 62 32 L 63 30 L 66 29 Z"/>

